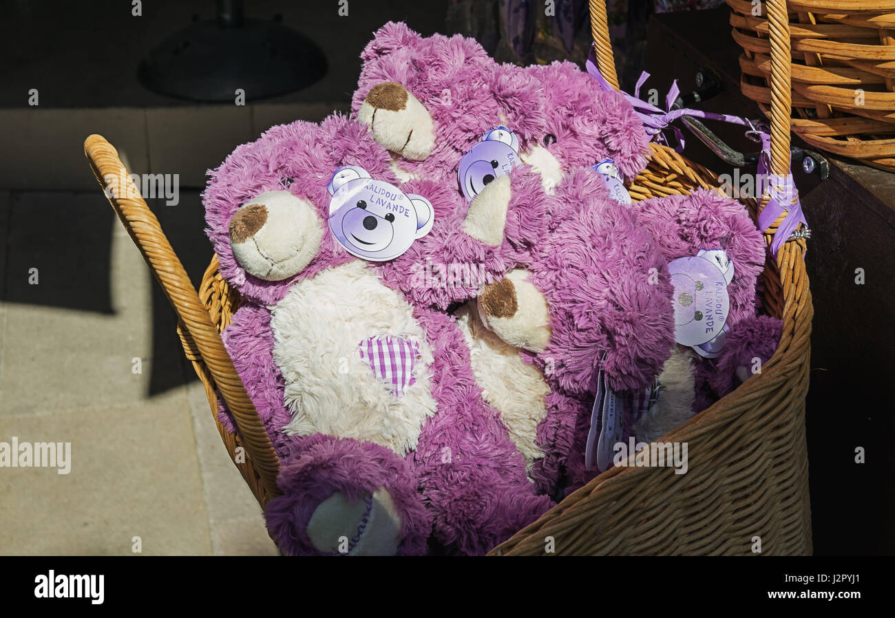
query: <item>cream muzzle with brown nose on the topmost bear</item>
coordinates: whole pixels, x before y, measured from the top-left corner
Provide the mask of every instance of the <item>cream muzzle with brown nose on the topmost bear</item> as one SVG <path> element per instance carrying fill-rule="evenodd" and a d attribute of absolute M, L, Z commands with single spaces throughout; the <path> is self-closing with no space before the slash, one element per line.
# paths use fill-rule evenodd
<path fill-rule="evenodd" d="M 371 128 L 373 140 L 412 161 L 422 161 L 435 148 L 429 110 L 396 81 L 376 84 L 363 99 L 357 119 Z"/>

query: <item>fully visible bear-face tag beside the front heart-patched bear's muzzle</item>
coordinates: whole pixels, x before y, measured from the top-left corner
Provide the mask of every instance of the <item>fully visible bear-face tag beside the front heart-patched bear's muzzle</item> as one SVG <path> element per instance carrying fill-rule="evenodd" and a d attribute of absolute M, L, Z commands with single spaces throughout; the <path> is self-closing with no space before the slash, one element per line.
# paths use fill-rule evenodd
<path fill-rule="evenodd" d="M 329 231 L 357 258 L 397 258 L 432 229 L 435 211 L 428 199 L 374 180 L 362 167 L 339 167 L 328 190 Z"/>

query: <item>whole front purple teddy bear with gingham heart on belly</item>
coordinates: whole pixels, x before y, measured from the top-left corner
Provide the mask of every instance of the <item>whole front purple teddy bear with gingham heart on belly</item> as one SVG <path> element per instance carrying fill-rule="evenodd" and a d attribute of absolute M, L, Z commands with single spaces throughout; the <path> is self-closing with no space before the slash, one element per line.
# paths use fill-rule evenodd
<path fill-rule="evenodd" d="M 552 504 L 483 401 L 455 321 L 389 284 L 396 260 L 356 258 L 328 226 L 397 238 L 393 213 L 413 237 L 437 229 L 450 191 L 399 188 L 389 164 L 336 115 L 236 148 L 203 194 L 221 274 L 247 301 L 224 338 L 281 461 L 265 514 L 290 555 L 420 555 L 430 538 L 482 554 Z M 389 191 L 386 212 L 375 196 Z"/>

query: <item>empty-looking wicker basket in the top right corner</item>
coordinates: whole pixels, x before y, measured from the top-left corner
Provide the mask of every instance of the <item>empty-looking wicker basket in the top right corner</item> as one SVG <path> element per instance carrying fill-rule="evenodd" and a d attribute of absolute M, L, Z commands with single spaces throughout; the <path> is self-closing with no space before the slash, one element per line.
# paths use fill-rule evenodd
<path fill-rule="evenodd" d="M 766 3 L 727 3 L 733 37 L 743 47 L 743 94 L 768 114 L 771 42 Z M 793 131 L 815 148 L 895 172 L 895 1 L 787 4 Z"/>

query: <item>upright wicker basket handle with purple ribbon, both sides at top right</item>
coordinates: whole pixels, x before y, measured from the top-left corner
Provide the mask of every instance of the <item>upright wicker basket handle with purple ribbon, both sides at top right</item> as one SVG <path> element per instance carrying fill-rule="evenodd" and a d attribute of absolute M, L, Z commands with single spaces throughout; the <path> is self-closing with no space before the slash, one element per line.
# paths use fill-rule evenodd
<path fill-rule="evenodd" d="M 618 75 L 609 40 L 606 0 L 590 0 L 591 34 L 597 67 L 618 89 Z M 789 18 L 786 0 L 764 0 L 771 26 L 771 173 L 789 172 L 789 114 L 792 104 Z"/>

